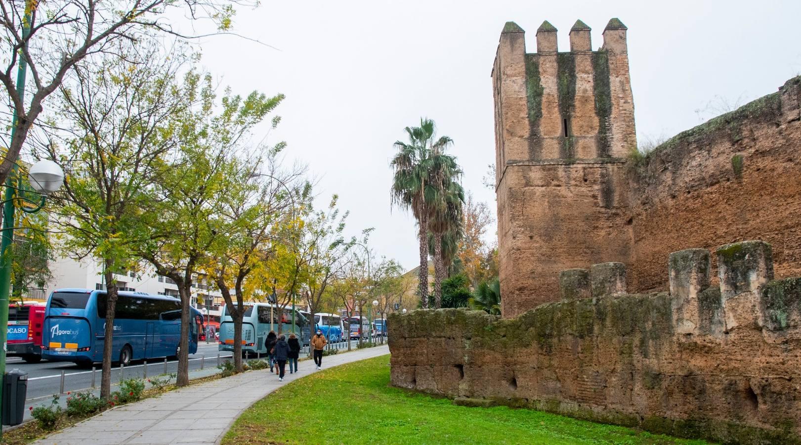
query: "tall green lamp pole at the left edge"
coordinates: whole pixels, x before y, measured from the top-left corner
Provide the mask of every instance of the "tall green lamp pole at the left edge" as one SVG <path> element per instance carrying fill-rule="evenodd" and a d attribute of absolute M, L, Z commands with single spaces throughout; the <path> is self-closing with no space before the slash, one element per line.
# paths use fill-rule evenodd
<path fill-rule="evenodd" d="M 26 3 L 25 19 L 22 21 L 22 42 L 26 42 L 30 34 L 30 2 Z M 19 101 L 25 98 L 25 75 L 28 68 L 28 63 L 20 51 L 19 65 L 17 66 L 17 92 Z M 14 117 L 11 118 L 11 140 L 14 140 L 14 135 L 17 133 L 17 109 L 14 107 Z M 8 305 L 9 305 L 9 291 L 11 287 L 11 253 L 8 248 L 11 242 L 14 241 L 14 197 L 17 192 L 16 184 L 18 167 L 14 163 L 11 168 L 8 179 L 6 179 L 6 194 L 5 202 L 2 211 L 2 243 L 0 243 L 0 378 L 2 378 L 2 385 L 0 385 L 0 400 L 2 400 L 2 387 L 5 385 L 6 375 L 6 338 L 8 335 Z M 2 411 L 2 407 L 0 407 Z M 2 433 L 0 433 L 2 434 Z"/>

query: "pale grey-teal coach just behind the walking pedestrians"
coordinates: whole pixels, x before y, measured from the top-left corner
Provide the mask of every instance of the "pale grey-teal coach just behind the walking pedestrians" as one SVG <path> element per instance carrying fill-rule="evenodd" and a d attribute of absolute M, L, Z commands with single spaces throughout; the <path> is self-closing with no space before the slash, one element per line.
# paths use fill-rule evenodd
<path fill-rule="evenodd" d="M 272 309 L 272 311 L 271 311 Z M 272 313 L 272 323 L 270 314 Z M 301 344 L 308 344 L 307 319 L 301 314 L 300 310 L 295 311 L 295 334 L 300 336 Z M 285 307 L 281 310 L 280 305 L 269 303 L 250 303 L 245 306 L 245 314 L 242 317 L 242 353 L 243 354 L 268 354 L 267 334 L 270 330 L 278 330 L 281 334 L 289 336 L 292 333 L 292 307 Z M 219 316 L 219 350 L 234 350 L 234 319 L 227 312 L 227 305 Z"/>

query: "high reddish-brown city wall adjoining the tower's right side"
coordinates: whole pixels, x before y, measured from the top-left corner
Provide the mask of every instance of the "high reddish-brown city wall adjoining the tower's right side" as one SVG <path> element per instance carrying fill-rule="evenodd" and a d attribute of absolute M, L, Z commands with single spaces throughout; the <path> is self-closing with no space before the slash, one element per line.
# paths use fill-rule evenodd
<path fill-rule="evenodd" d="M 799 102 L 796 77 L 630 160 L 630 289 L 665 289 L 668 253 L 728 240 L 767 241 L 776 276 L 801 275 Z"/>

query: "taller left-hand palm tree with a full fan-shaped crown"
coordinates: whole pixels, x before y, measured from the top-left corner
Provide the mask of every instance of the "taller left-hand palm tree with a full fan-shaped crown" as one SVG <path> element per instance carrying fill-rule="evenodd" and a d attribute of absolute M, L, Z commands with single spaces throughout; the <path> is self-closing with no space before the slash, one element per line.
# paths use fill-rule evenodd
<path fill-rule="evenodd" d="M 418 241 L 420 243 L 419 286 L 422 307 L 429 306 L 429 214 L 441 187 L 441 177 L 437 173 L 437 154 L 453 144 L 448 136 L 437 139 L 436 126 L 431 119 L 420 119 L 420 127 L 406 127 L 409 143 L 395 142 L 398 152 L 392 158 L 392 204 L 401 208 L 411 208 L 417 219 Z"/>

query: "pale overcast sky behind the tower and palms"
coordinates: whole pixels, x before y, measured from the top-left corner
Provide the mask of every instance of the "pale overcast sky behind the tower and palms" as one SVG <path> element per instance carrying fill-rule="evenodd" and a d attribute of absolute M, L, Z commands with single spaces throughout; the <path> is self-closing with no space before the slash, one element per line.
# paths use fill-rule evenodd
<path fill-rule="evenodd" d="M 570 5 L 570 6 L 568 6 Z M 242 38 L 205 38 L 203 67 L 221 85 L 287 97 L 269 140 L 320 177 L 322 200 L 336 193 L 350 231 L 374 227 L 376 253 L 417 265 L 417 230 L 390 208 L 392 143 L 421 116 L 453 138 L 463 185 L 495 208 L 481 177 L 494 162 L 490 70 L 506 21 L 526 30 L 528 52 L 543 20 L 569 51 L 577 18 L 593 47 L 612 17 L 628 26 L 638 138 L 673 136 L 720 103 L 746 103 L 801 73 L 801 2 L 270 2 L 240 9 Z M 712 101 L 711 107 L 708 107 Z M 264 136 L 262 131 L 259 136 Z M 260 137 L 256 138 L 257 140 Z M 321 203 L 322 204 L 322 203 Z M 488 237 L 495 236 L 493 226 Z"/>

